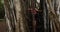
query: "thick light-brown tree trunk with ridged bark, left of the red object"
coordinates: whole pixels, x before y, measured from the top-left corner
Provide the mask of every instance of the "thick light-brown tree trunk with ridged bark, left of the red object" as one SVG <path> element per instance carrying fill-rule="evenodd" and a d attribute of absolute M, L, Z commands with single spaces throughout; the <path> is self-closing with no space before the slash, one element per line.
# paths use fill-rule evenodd
<path fill-rule="evenodd" d="M 27 32 L 24 8 L 21 0 L 4 0 L 8 32 Z"/>

